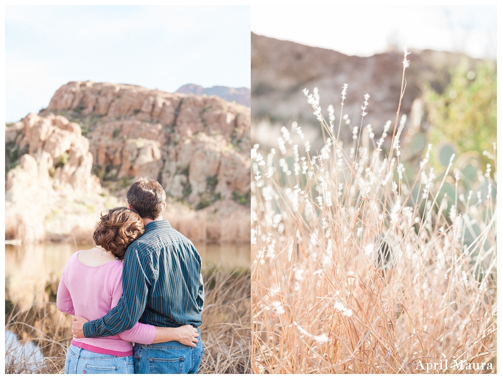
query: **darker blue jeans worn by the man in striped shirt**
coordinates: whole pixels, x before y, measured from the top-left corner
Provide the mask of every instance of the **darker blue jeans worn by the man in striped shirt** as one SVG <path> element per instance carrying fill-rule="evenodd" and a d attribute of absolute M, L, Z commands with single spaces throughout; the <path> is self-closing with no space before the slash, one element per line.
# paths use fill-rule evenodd
<path fill-rule="evenodd" d="M 134 345 L 134 370 L 137 374 L 196 374 L 202 360 L 202 341 L 190 347 L 178 341 Z"/>

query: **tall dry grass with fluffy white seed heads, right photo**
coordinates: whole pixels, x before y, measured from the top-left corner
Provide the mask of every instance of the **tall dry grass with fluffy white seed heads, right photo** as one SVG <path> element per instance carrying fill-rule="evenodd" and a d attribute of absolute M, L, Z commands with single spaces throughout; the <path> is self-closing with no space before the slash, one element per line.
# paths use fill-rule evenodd
<path fill-rule="evenodd" d="M 316 94 L 309 102 L 317 111 Z M 418 373 L 445 359 L 447 370 L 429 372 L 496 372 L 489 169 L 468 193 L 452 164 L 435 180 L 427 152 L 407 177 L 398 119 L 385 154 L 362 119 L 342 147 L 342 117 L 337 131 L 317 114 L 325 146 L 315 156 L 300 156 L 286 128 L 278 149 L 251 153 L 253 372 Z"/>

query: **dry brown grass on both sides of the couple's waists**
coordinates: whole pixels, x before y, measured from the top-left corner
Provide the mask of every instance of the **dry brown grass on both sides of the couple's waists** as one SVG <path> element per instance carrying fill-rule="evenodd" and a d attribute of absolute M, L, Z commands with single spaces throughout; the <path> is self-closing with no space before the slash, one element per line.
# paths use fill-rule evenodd
<path fill-rule="evenodd" d="M 201 328 L 204 356 L 200 373 L 250 372 L 250 274 L 249 270 L 206 269 L 206 298 Z M 19 348 L 6 345 L 5 373 L 63 373 L 71 342 L 71 316 L 54 303 L 33 303 L 19 309 L 6 302 L 6 331 L 21 344 L 33 343 L 43 361 L 21 356 Z"/>

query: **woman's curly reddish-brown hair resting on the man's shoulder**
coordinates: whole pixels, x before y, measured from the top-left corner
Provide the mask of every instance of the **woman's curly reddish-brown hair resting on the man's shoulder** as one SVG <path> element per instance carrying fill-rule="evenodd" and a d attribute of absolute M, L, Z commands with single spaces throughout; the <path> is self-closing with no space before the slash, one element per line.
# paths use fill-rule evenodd
<path fill-rule="evenodd" d="M 126 207 L 113 208 L 101 214 L 92 238 L 96 245 L 111 251 L 120 260 L 124 259 L 127 247 L 144 232 L 139 214 Z"/>

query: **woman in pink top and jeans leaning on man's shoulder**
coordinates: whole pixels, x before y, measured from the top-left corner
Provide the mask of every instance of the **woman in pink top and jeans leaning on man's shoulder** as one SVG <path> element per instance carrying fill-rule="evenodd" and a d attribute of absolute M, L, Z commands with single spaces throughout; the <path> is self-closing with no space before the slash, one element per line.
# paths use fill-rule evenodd
<path fill-rule="evenodd" d="M 122 260 L 129 246 L 143 234 L 143 220 L 126 207 L 101 215 L 92 249 L 77 251 L 68 261 L 58 288 L 62 312 L 93 320 L 117 305 L 122 295 Z M 194 347 L 197 330 L 191 325 L 160 328 L 137 322 L 117 336 L 74 338 L 68 349 L 65 373 L 134 373 L 133 345 L 178 341 Z"/>

